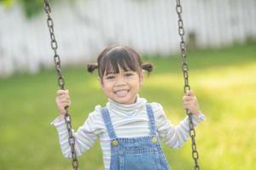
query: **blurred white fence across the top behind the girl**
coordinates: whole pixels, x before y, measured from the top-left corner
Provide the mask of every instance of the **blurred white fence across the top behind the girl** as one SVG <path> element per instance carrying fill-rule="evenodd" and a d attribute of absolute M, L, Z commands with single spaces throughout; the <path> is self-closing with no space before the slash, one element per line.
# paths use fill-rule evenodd
<path fill-rule="evenodd" d="M 112 43 L 130 45 L 140 54 L 177 53 L 175 0 L 70 2 L 52 7 L 62 65 L 95 58 Z M 183 0 L 182 4 L 185 33 L 194 32 L 201 48 L 256 37 L 255 0 Z M 45 14 L 27 20 L 19 6 L 0 5 L 0 77 L 52 65 Z"/>

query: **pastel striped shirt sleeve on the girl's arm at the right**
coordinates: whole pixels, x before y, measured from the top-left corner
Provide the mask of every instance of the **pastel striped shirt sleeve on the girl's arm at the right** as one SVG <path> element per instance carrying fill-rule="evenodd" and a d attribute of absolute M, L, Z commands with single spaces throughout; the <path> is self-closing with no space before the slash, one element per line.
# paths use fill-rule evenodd
<path fill-rule="evenodd" d="M 163 107 L 158 103 L 152 103 L 156 130 L 161 140 L 173 149 L 179 149 L 189 139 L 189 117 L 186 116 L 177 126 L 167 119 Z M 192 116 L 192 122 L 196 126 L 203 121 L 205 116 L 201 113 L 198 117 Z"/>

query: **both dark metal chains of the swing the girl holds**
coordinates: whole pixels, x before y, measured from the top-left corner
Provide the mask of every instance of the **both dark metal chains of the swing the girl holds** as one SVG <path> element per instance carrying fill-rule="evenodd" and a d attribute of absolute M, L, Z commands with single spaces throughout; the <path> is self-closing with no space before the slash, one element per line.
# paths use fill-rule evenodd
<path fill-rule="evenodd" d="M 47 14 L 47 26 L 49 28 L 49 37 L 50 37 L 50 45 L 51 48 L 54 51 L 54 61 L 55 61 L 55 70 L 57 73 L 57 81 L 60 89 L 65 89 L 65 82 L 64 78 L 62 77 L 61 73 L 61 59 L 60 56 L 57 54 L 57 42 L 55 39 L 55 31 L 54 31 L 54 22 L 50 16 L 51 13 L 51 8 L 49 5 L 49 0 L 44 0 L 44 12 Z M 186 54 L 186 47 L 185 47 L 185 42 L 184 42 L 184 28 L 183 28 L 183 19 L 182 19 L 182 12 L 183 8 L 181 6 L 180 0 L 177 0 L 176 4 L 176 12 L 177 12 L 177 26 L 178 26 L 178 35 L 181 38 L 180 41 L 180 51 L 181 51 L 181 56 L 182 56 L 182 71 L 183 71 L 183 79 L 184 79 L 184 93 L 188 92 L 190 89 L 189 86 L 189 67 L 187 63 L 187 54 Z M 76 151 L 74 149 L 74 144 L 75 144 L 75 139 L 73 137 L 73 132 L 72 132 L 72 126 L 71 126 L 71 116 L 68 113 L 68 107 L 65 108 L 66 114 L 65 114 L 65 122 L 67 126 L 67 132 L 68 132 L 68 143 L 71 147 L 71 156 L 72 156 L 72 166 L 73 169 L 77 170 L 79 169 L 79 161 L 77 159 Z M 192 122 L 192 113 L 189 112 L 188 109 L 186 109 L 186 114 L 189 116 L 189 136 L 191 138 L 191 143 L 192 143 L 192 158 L 194 160 L 194 169 L 199 170 L 199 163 L 198 163 L 198 151 L 196 150 L 196 144 L 195 144 L 195 128 L 194 124 Z"/>

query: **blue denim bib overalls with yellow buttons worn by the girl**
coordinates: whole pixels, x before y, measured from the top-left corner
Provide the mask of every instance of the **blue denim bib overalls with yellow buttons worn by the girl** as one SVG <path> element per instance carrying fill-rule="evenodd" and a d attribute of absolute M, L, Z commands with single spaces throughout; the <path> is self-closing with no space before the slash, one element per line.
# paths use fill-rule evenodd
<path fill-rule="evenodd" d="M 137 138 L 117 138 L 108 109 L 102 109 L 102 117 L 108 129 L 111 145 L 110 170 L 169 170 L 160 139 L 156 136 L 154 113 L 146 105 L 148 113 L 149 136 Z"/>

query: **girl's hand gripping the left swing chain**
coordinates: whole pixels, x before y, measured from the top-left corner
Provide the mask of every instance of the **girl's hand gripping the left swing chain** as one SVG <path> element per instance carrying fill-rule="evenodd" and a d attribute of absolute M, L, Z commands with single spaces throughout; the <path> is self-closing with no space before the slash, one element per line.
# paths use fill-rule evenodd
<path fill-rule="evenodd" d="M 55 102 L 58 107 L 60 117 L 61 119 L 63 119 L 66 114 L 65 108 L 71 105 L 71 100 L 68 94 L 68 90 L 58 90 Z"/>

